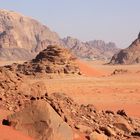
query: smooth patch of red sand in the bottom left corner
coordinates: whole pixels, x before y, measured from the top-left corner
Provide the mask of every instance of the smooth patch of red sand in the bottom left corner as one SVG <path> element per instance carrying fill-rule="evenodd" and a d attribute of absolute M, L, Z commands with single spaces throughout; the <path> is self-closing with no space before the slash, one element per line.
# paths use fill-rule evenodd
<path fill-rule="evenodd" d="M 0 140 L 33 140 L 11 127 L 0 125 Z"/>

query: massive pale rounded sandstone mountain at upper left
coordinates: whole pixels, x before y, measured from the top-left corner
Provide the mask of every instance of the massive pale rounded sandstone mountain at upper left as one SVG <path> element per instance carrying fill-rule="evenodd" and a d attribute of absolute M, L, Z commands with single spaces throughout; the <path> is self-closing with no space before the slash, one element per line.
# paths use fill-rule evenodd
<path fill-rule="evenodd" d="M 0 58 L 31 59 L 60 38 L 47 26 L 13 11 L 0 10 Z"/>

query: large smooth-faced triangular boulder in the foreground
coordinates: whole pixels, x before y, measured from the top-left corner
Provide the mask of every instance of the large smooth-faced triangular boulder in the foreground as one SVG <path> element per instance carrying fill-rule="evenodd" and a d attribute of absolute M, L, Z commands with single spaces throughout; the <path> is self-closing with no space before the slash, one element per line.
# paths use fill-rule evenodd
<path fill-rule="evenodd" d="M 8 116 L 11 125 L 37 140 L 73 140 L 73 131 L 45 101 Z"/>

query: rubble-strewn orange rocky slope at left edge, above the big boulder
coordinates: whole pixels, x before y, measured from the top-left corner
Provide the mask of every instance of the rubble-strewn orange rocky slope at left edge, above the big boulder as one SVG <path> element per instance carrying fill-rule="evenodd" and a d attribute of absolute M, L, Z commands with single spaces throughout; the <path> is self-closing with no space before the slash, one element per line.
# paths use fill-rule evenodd
<path fill-rule="evenodd" d="M 19 74 L 0 68 L 0 107 L 10 111 L 23 109 L 30 99 L 44 96 L 47 92 L 43 82 L 30 83 Z"/>

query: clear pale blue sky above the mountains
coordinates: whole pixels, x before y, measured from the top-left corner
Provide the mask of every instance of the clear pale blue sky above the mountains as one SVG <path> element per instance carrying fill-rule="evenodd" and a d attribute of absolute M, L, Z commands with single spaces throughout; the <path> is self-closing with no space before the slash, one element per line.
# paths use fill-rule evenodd
<path fill-rule="evenodd" d="M 140 0 L 1 0 L 0 8 L 31 16 L 60 37 L 101 39 L 127 47 L 140 31 Z"/>

